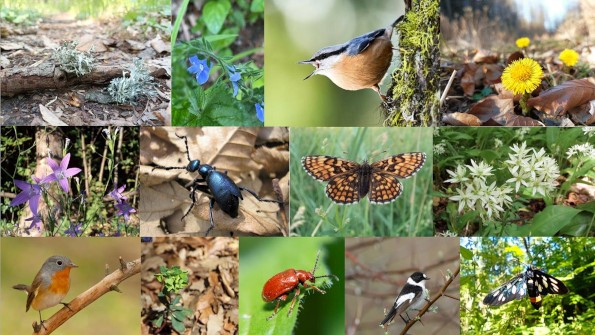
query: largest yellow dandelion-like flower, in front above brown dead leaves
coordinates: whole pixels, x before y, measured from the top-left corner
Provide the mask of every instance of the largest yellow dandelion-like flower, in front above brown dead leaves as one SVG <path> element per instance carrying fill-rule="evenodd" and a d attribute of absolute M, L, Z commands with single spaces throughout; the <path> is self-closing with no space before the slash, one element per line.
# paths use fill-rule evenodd
<path fill-rule="evenodd" d="M 515 60 L 502 73 L 502 85 L 514 94 L 531 93 L 541 84 L 543 71 L 531 58 Z"/>

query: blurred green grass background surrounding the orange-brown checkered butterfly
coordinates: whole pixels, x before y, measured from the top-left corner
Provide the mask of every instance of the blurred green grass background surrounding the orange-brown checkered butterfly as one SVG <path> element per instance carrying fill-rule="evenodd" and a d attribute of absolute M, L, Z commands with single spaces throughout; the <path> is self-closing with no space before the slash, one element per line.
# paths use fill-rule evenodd
<path fill-rule="evenodd" d="M 290 152 L 293 235 L 433 235 L 432 128 L 292 128 Z M 306 155 L 372 163 L 406 152 L 425 152 L 426 162 L 413 177 L 400 179 L 403 192 L 384 205 L 370 204 L 367 196 L 356 204 L 335 204 L 326 196 L 327 183 L 308 175 L 301 163 Z"/>

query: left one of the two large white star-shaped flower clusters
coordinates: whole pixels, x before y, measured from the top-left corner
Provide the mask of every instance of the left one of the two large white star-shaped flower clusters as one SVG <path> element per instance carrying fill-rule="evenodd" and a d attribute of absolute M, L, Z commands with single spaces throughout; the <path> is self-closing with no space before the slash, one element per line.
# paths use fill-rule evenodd
<path fill-rule="evenodd" d="M 459 165 L 456 171 L 446 170 L 452 177 L 446 180 L 447 183 L 460 183 L 455 190 L 458 195 L 449 199 L 459 202 L 459 213 L 464 209 L 477 210 L 484 220 L 499 218 L 504 207 L 512 204 L 512 198 L 508 195 L 512 188 L 507 186 L 498 187 L 496 182 L 488 185 L 487 177 L 492 175 L 493 167 L 484 162 L 471 165 Z"/>

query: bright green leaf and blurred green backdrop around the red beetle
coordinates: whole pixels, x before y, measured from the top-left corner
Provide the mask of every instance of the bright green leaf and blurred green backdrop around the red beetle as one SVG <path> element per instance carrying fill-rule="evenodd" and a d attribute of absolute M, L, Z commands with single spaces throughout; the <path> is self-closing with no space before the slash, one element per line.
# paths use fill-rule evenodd
<path fill-rule="evenodd" d="M 266 281 L 291 268 L 312 271 L 318 251 L 320 259 L 314 275 L 334 274 L 339 281 L 333 280 L 328 287 L 321 285 L 328 278 L 317 279 L 314 285 L 326 294 L 302 288 L 302 303 L 296 301 L 291 315 L 287 316 L 287 312 L 293 293 L 281 302 L 277 315 L 267 321 L 276 302 L 262 300 Z M 240 238 L 240 334 L 345 334 L 344 252 L 341 238 Z"/>

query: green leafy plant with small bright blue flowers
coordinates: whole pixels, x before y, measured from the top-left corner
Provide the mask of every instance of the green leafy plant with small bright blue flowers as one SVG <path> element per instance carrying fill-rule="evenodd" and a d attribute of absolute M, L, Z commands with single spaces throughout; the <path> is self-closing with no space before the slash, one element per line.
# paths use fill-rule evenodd
<path fill-rule="evenodd" d="M 187 13 L 184 0 L 172 32 L 172 124 L 245 125 L 264 122 L 264 70 L 247 60 L 262 46 L 233 50 L 249 25 L 262 23 L 264 1 L 207 1 L 191 27 L 198 38 L 176 41 Z"/>

